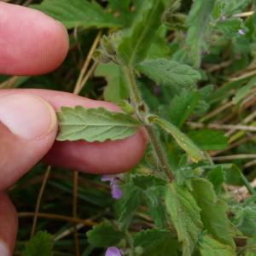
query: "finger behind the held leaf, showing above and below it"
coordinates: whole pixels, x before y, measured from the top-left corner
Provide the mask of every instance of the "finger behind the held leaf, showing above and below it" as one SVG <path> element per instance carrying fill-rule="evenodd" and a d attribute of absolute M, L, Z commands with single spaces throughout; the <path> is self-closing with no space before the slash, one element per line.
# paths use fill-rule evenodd
<path fill-rule="evenodd" d="M 84 106 L 85 108 L 108 108 L 118 111 L 110 102 L 93 101 L 81 96 L 52 90 L 2 90 L 3 93 L 23 91 L 44 97 L 56 111 L 61 106 Z M 1 95 L 0 92 L 0 95 Z M 105 143 L 56 142 L 45 160 L 55 166 L 72 168 L 90 173 L 117 173 L 130 170 L 142 158 L 147 139 L 142 130 L 124 140 Z"/>

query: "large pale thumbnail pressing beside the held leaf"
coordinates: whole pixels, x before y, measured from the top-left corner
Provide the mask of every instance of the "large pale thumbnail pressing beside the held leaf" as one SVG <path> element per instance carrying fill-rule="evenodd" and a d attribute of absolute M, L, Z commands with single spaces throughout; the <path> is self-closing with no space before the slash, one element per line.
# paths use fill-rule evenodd
<path fill-rule="evenodd" d="M 54 131 L 57 124 L 49 103 L 29 94 L 0 97 L 0 122 L 25 139 L 44 137 Z"/>

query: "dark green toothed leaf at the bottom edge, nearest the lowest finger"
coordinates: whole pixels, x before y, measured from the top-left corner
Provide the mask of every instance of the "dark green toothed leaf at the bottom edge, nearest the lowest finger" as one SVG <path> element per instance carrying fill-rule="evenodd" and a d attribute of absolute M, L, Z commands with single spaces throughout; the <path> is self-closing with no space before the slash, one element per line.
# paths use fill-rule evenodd
<path fill-rule="evenodd" d="M 53 256 L 53 239 L 46 231 L 39 231 L 25 244 L 22 256 Z"/>

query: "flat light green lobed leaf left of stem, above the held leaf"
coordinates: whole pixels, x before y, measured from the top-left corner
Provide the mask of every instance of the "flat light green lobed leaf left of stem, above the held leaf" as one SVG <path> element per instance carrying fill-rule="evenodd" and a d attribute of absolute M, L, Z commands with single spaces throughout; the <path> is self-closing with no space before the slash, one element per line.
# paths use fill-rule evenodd
<path fill-rule="evenodd" d="M 113 62 L 99 64 L 94 73 L 95 77 L 105 77 L 108 85 L 104 90 L 104 99 L 108 102 L 119 103 L 129 96 L 125 85 L 125 78 L 121 68 Z"/>

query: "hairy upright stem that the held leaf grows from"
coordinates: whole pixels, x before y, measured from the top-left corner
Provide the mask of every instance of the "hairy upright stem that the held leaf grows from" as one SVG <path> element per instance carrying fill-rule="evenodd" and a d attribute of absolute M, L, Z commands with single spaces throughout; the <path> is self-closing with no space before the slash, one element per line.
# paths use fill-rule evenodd
<path fill-rule="evenodd" d="M 135 75 L 133 72 L 133 68 L 130 66 L 128 67 L 125 66 L 123 67 L 123 72 L 125 74 L 125 79 L 129 86 L 132 105 L 136 109 L 138 109 L 139 105 L 144 105 L 147 107 L 146 103 L 143 102 L 143 98 L 140 95 L 140 92 L 137 88 L 137 83 L 136 83 Z M 147 124 L 147 122 L 145 121 L 145 116 L 141 111 L 139 110 L 137 111 L 137 116 L 141 121 L 143 121 L 143 125 L 148 133 L 150 143 L 154 148 L 154 155 L 155 155 L 158 166 L 160 166 L 160 169 L 166 173 L 166 176 L 169 178 L 169 180 L 172 181 L 174 179 L 174 175 L 169 166 L 165 151 L 163 150 L 162 145 L 160 143 L 159 136 L 154 131 L 154 127 L 152 125 Z"/>

